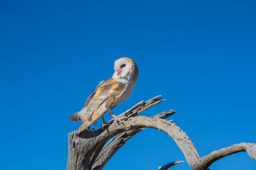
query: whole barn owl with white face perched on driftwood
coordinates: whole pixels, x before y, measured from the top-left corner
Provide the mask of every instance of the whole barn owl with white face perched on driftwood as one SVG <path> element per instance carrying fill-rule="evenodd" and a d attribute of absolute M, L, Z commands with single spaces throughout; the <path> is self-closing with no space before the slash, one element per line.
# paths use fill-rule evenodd
<path fill-rule="evenodd" d="M 108 125 L 104 118 L 105 113 L 114 117 L 114 123 L 122 123 L 124 119 L 117 118 L 111 110 L 132 95 L 138 76 L 139 69 L 132 59 L 122 57 L 116 60 L 112 78 L 101 82 L 87 98 L 85 107 L 70 116 L 70 120 L 83 122 L 80 128 L 75 131 L 75 135 L 80 134 L 91 124 L 97 125 L 100 116 L 103 120 L 103 126 Z"/>

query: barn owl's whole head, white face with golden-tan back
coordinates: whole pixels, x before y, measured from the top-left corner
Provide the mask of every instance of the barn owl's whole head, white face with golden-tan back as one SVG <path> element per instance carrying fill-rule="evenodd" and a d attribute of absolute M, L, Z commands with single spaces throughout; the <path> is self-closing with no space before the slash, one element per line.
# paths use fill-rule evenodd
<path fill-rule="evenodd" d="M 136 81 L 139 76 L 139 69 L 134 60 L 128 57 L 119 58 L 114 62 L 113 79 Z"/>

